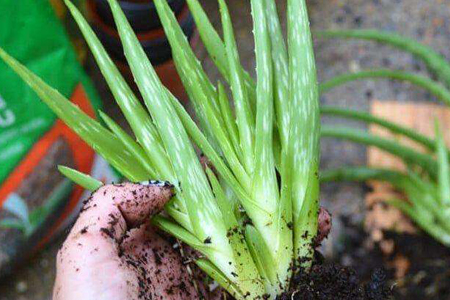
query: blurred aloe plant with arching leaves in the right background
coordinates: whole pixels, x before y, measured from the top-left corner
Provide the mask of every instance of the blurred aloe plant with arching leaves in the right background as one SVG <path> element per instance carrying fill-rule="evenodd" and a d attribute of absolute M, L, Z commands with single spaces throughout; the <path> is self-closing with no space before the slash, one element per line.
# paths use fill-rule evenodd
<path fill-rule="evenodd" d="M 320 85 L 320 92 L 353 80 L 388 78 L 410 82 L 424 88 L 446 106 L 450 106 L 450 63 L 432 48 L 395 33 L 377 30 L 334 30 L 317 32 L 323 38 L 356 38 L 376 41 L 409 52 L 422 60 L 437 80 L 405 71 L 367 70 L 351 74 L 339 75 Z M 446 147 L 443 132 L 436 125 L 436 139 L 404 126 L 395 124 L 369 113 L 352 111 L 344 108 L 323 106 L 321 113 L 344 117 L 368 124 L 381 126 L 395 135 L 404 136 L 426 151 L 417 151 L 404 146 L 393 139 L 386 139 L 353 128 L 336 128 L 324 126 L 323 137 L 337 137 L 357 143 L 380 148 L 399 157 L 408 166 L 407 173 L 387 169 L 367 167 L 350 167 L 340 170 L 329 170 L 323 173 L 323 181 L 353 180 L 365 181 L 376 179 L 391 183 L 403 192 L 408 201 L 388 199 L 388 203 L 399 208 L 409 216 L 420 228 L 437 241 L 450 247 L 450 151 Z"/>

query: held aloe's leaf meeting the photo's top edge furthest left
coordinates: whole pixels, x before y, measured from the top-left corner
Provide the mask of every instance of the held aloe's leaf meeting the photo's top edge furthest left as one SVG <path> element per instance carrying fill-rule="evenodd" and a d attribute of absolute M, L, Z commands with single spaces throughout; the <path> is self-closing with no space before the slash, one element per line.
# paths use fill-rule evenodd
<path fill-rule="evenodd" d="M 144 147 L 156 175 L 161 180 L 173 179 L 172 166 L 150 116 L 108 56 L 88 22 L 70 1 L 65 0 L 65 2 L 83 33 L 117 104 L 124 113 L 138 142 Z M 148 166 L 146 169 L 148 170 Z"/>

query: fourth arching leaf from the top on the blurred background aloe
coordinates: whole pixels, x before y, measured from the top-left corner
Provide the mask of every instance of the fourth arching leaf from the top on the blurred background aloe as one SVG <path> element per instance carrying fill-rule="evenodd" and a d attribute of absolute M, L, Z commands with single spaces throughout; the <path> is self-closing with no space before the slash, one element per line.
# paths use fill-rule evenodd
<path fill-rule="evenodd" d="M 387 151 L 405 162 L 418 165 L 431 176 L 437 176 L 437 162 L 431 155 L 420 153 L 408 146 L 403 146 L 393 140 L 382 138 L 361 130 L 352 128 L 336 128 L 324 126 L 321 131 L 322 137 L 334 137 L 348 139 L 356 143 L 375 146 Z"/>

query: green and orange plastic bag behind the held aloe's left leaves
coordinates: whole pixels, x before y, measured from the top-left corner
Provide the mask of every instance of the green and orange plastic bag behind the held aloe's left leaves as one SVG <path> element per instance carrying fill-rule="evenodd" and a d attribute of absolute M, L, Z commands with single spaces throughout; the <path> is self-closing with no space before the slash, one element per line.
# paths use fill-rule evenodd
<path fill-rule="evenodd" d="M 92 117 L 98 96 L 47 0 L 0 0 L 0 46 Z M 0 276 L 48 242 L 86 193 L 67 165 L 109 181 L 111 168 L 0 63 Z"/>

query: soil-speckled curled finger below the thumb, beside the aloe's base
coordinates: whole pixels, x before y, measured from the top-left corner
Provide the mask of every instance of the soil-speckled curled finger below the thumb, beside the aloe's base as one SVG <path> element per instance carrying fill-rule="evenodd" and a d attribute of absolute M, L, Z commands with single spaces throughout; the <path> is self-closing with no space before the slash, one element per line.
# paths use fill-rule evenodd
<path fill-rule="evenodd" d="M 180 253 L 151 225 L 130 231 L 122 251 L 139 273 L 141 293 L 149 299 L 200 299 Z"/>

